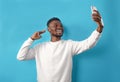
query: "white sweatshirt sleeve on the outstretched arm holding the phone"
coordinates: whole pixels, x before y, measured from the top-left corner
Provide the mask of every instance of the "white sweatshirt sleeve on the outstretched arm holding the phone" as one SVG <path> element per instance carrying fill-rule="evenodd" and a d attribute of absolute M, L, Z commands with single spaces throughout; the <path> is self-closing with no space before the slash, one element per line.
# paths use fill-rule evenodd
<path fill-rule="evenodd" d="M 83 41 L 73 41 L 72 42 L 72 53 L 80 54 L 93 46 L 97 43 L 98 39 L 100 38 L 101 33 L 99 33 L 97 30 L 93 31 L 92 34 Z"/>

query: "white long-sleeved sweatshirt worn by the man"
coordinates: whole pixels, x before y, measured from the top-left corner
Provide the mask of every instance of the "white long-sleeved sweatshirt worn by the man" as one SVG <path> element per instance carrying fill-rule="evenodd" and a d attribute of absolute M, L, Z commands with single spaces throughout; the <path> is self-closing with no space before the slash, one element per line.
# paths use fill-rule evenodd
<path fill-rule="evenodd" d="M 71 82 L 72 56 L 93 47 L 100 37 L 96 30 L 83 41 L 60 40 L 44 42 L 33 48 L 33 40 L 24 42 L 18 60 L 36 60 L 38 82 Z"/>

